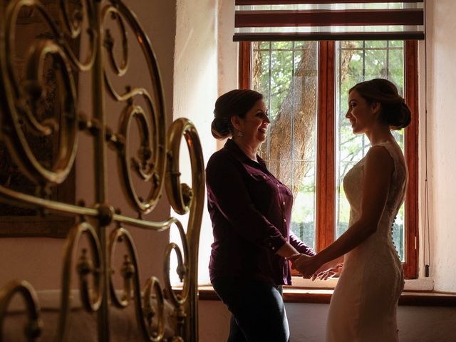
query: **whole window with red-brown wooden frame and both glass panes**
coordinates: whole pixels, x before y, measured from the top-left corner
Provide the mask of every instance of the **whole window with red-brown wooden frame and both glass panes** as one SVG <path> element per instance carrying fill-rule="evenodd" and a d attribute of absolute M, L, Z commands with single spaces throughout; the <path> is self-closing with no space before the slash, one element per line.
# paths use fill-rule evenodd
<path fill-rule="evenodd" d="M 393 227 L 405 276 L 417 276 L 416 41 L 255 41 L 240 45 L 239 83 L 263 93 L 271 125 L 261 156 L 294 193 L 291 230 L 317 251 L 348 228 L 342 180 L 367 152 L 344 115 L 347 92 L 371 78 L 398 86 L 413 122 L 393 134 L 409 168 L 406 202 Z M 410 130 L 410 133 L 408 134 Z"/>

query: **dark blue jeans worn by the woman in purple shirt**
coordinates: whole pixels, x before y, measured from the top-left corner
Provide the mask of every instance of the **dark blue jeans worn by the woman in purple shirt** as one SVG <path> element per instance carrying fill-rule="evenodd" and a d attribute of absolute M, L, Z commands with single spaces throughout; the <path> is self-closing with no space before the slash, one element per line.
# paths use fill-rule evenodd
<path fill-rule="evenodd" d="M 289 341 L 281 285 L 219 277 L 212 286 L 232 313 L 228 342 Z"/>

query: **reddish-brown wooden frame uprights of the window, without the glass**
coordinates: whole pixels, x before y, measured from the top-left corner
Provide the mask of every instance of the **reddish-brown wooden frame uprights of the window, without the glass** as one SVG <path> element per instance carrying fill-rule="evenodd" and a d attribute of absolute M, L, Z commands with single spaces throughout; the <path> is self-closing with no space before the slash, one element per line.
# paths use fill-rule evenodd
<path fill-rule="evenodd" d="M 252 43 L 239 43 L 239 88 L 251 88 Z M 316 249 L 334 241 L 336 202 L 335 131 L 336 42 L 318 41 L 318 113 Z M 404 41 L 405 101 L 412 122 L 405 128 L 405 160 L 409 181 L 405 198 L 405 278 L 418 277 L 418 42 Z M 331 214 L 328 214 L 331 213 Z"/>

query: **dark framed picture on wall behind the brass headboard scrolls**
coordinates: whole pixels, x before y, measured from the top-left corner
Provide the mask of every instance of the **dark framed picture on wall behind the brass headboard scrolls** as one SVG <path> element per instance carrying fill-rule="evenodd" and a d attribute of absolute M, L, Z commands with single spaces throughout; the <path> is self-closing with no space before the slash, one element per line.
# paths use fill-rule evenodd
<path fill-rule="evenodd" d="M 70 6 L 77 6 L 76 2 L 68 1 Z M 60 6 L 58 0 L 42 0 L 46 11 L 51 17 L 59 19 Z M 74 3 L 74 4 L 73 4 Z M 8 4 L 6 1 L 5 6 Z M 14 68 L 19 82 L 23 77 L 26 56 L 33 41 L 40 38 L 54 38 L 51 30 L 43 21 L 41 14 L 33 6 L 26 6 L 19 12 L 19 19 L 15 28 Z M 71 48 L 78 56 L 80 40 L 68 40 Z M 50 58 L 49 58 L 50 59 Z M 43 96 L 40 100 L 38 110 L 36 110 L 36 120 L 42 121 L 46 118 L 58 118 L 58 106 L 56 100 L 58 86 L 56 74 L 51 61 L 45 63 L 43 68 Z M 77 73 L 74 73 L 77 84 Z M 36 135 L 32 130 L 28 130 L 26 125 L 23 129 L 28 145 L 31 147 L 33 155 L 44 167 L 50 167 L 53 163 L 56 152 L 58 151 L 58 132 L 43 137 Z M 75 170 L 70 172 L 66 180 L 58 186 L 53 187 L 46 198 L 58 202 L 74 204 L 76 202 L 76 175 Z M 27 195 L 37 195 L 38 187 L 24 175 L 14 164 L 4 142 L 0 140 L 0 185 L 8 189 L 22 192 Z M 34 209 L 26 207 L 16 207 L 0 202 L 0 237 L 66 237 L 68 229 L 74 224 L 73 217 L 59 214 L 36 212 Z"/>

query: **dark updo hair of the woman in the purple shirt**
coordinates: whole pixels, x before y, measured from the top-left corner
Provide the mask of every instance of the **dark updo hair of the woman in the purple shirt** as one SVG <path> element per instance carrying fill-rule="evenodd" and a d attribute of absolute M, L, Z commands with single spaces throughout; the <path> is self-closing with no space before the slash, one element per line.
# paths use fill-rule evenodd
<path fill-rule="evenodd" d="M 231 118 L 234 115 L 244 118 L 263 95 L 255 90 L 234 89 L 224 93 L 215 101 L 214 120 L 212 120 L 211 132 L 214 138 L 222 140 L 233 135 L 234 127 Z"/>

